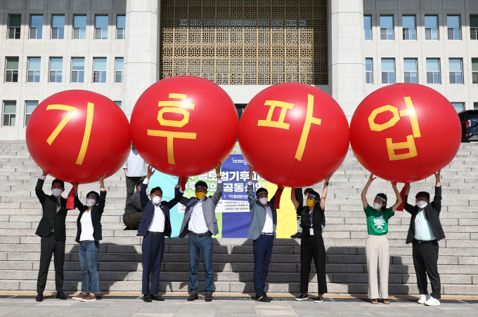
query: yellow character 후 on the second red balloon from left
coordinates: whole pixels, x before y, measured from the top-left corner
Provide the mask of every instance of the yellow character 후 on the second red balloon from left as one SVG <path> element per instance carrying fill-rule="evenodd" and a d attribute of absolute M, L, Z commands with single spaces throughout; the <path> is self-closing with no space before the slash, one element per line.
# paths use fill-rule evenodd
<path fill-rule="evenodd" d="M 181 99 L 185 100 L 186 95 L 181 93 L 170 93 L 170 99 Z M 159 112 L 157 112 L 157 121 L 160 123 L 161 126 L 171 126 L 175 128 L 183 128 L 189 122 L 189 112 L 186 109 L 194 110 L 194 104 L 190 104 L 188 102 L 183 101 L 160 101 L 157 102 L 157 107 L 162 107 Z M 163 114 L 170 112 L 176 114 L 182 114 L 183 119 L 181 121 L 175 120 L 167 120 L 164 119 Z M 174 147 L 173 147 L 173 140 L 174 138 L 179 139 L 191 139 L 195 140 L 196 133 L 188 133 L 188 132 L 174 132 L 174 131 L 164 131 L 164 130 L 149 130 L 148 135 L 152 135 L 155 137 L 167 137 L 167 161 L 169 164 L 175 165 L 174 163 Z"/>

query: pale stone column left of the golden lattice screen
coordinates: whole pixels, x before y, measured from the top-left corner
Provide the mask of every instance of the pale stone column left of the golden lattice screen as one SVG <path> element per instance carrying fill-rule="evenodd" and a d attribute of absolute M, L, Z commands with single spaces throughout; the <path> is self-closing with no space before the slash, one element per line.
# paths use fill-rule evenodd
<path fill-rule="evenodd" d="M 128 118 L 146 88 L 159 80 L 160 1 L 127 0 L 122 108 Z"/>

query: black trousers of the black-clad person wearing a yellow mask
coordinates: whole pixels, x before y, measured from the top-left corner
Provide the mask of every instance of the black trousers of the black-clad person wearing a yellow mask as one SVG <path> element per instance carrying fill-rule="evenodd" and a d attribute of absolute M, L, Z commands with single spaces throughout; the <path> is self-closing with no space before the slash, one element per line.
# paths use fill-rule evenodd
<path fill-rule="evenodd" d="M 309 229 L 304 229 L 300 242 L 300 292 L 309 291 L 309 274 L 311 271 L 311 262 L 314 259 L 317 272 L 318 294 L 327 292 L 327 276 L 325 275 L 325 246 L 323 245 L 322 235 L 309 235 Z M 320 232 L 320 231 L 319 231 Z"/>

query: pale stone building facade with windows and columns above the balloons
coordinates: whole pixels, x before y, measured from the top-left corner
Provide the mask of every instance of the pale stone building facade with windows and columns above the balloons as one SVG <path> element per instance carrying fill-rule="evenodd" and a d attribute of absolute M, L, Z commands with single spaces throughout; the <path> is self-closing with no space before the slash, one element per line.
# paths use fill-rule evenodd
<path fill-rule="evenodd" d="M 129 116 L 169 76 L 218 83 L 238 111 L 295 81 L 350 120 L 391 83 L 478 109 L 478 0 L 0 0 L 0 140 L 25 138 L 49 95 L 101 93 Z"/>

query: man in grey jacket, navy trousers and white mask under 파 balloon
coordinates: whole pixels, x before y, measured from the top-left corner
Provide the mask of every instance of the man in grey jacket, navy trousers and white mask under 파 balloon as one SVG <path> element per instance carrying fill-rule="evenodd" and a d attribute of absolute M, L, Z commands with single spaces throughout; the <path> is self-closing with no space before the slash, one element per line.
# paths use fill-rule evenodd
<path fill-rule="evenodd" d="M 251 212 L 251 227 L 247 233 L 247 238 L 253 240 L 254 251 L 254 289 L 258 302 L 271 302 L 272 298 L 267 297 L 264 288 L 266 288 L 267 274 L 269 273 L 269 264 L 271 264 L 272 248 L 274 238 L 276 237 L 277 213 L 274 209 L 276 203 L 276 194 L 268 202 L 269 193 L 265 188 L 259 188 L 254 198 L 254 182 L 252 182 L 252 168 L 249 166 L 249 183 L 247 184 L 247 198 L 249 199 L 249 208 Z"/>

